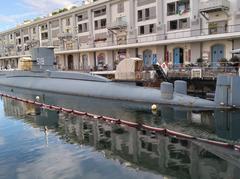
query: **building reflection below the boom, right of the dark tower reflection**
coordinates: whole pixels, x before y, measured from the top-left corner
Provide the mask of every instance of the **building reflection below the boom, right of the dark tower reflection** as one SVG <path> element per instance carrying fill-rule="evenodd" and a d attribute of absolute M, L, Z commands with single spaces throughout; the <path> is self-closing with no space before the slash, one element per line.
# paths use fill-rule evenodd
<path fill-rule="evenodd" d="M 117 159 L 123 164 L 130 162 L 132 167 L 143 167 L 178 178 L 234 178 L 240 174 L 240 163 L 233 165 L 231 161 L 187 140 L 63 113 L 59 117 L 59 126 L 66 136 L 74 138 L 77 143 L 103 150 L 107 158 Z M 220 156 L 231 158 L 228 151 Z"/>

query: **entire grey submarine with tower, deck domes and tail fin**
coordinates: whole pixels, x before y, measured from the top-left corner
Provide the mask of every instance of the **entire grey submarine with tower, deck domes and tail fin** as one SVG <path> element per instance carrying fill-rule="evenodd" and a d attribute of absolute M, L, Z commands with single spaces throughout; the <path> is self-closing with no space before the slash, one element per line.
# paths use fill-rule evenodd
<path fill-rule="evenodd" d="M 188 108 L 239 108 L 240 77 L 219 76 L 215 100 L 187 95 L 187 84 L 163 82 L 160 89 L 138 87 L 114 82 L 98 75 L 57 71 L 53 48 L 32 49 L 31 70 L 0 71 L 0 90 L 22 88 L 84 97 L 163 104 Z"/>

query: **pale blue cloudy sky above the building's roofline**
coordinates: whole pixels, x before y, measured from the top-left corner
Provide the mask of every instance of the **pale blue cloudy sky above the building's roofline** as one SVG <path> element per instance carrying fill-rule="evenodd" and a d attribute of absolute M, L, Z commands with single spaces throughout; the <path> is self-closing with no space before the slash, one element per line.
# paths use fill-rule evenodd
<path fill-rule="evenodd" d="M 24 20 L 46 16 L 54 10 L 80 5 L 82 0 L 0 0 L 0 32 Z"/>

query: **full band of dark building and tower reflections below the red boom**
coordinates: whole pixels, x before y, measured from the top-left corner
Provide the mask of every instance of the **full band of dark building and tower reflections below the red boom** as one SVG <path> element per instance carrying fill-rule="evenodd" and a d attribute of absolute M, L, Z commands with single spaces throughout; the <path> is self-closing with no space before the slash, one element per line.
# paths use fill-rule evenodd
<path fill-rule="evenodd" d="M 184 179 L 240 176 L 240 156 L 232 150 L 39 109 L 12 99 L 3 98 L 3 101 L 6 115 L 23 119 L 36 128 L 47 126 L 62 140 L 93 146 L 107 159 L 117 160 L 127 167 Z M 185 113 L 181 111 L 181 114 Z"/>

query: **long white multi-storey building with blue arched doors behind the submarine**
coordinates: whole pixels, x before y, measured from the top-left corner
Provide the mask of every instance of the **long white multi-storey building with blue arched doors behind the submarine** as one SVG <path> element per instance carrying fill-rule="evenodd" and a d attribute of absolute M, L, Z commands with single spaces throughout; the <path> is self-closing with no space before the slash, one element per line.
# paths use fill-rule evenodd
<path fill-rule="evenodd" d="M 98 0 L 0 33 L 0 66 L 53 46 L 64 70 L 112 70 L 126 57 L 212 66 L 240 48 L 238 0 Z"/>

